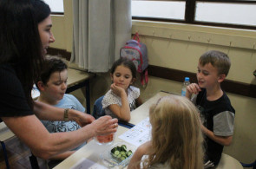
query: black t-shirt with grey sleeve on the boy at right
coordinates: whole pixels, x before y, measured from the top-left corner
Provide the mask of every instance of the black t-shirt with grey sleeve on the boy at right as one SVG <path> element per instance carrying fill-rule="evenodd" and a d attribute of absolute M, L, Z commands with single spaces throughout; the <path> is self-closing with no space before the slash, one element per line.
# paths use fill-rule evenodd
<path fill-rule="evenodd" d="M 216 101 L 207 101 L 207 90 L 202 88 L 196 96 L 196 107 L 200 110 L 200 119 L 202 124 L 218 136 L 233 135 L 234 114 L 229 98 L 226 93 Z M 214 165 L 218 165 L 223 151 L 223 146 L 219 143 L 205 138 L 206 159 L 213 161 Z"/>

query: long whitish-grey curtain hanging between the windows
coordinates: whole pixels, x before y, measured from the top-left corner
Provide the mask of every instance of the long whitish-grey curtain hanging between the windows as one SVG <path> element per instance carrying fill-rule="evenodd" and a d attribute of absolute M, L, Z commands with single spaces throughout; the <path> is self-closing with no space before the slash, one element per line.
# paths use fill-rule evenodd
<path fill-rule="evenodd" d="M 108 72 L 131 38 L 131 0 L 73 0 L 70 62 L 89 72 Z"/>

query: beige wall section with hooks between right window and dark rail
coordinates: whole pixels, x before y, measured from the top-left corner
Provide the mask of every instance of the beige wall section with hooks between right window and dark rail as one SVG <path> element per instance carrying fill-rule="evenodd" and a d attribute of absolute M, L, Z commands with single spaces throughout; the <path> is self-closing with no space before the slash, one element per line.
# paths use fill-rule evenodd
<path fill-rule="evenodd" d="M 217 49 L 231 59 L 227 79 L 256 84 L 256 31 L 134 21 L 136 31 L 143 35 L 152 65 L 196 72 L 200 55 Z"/>

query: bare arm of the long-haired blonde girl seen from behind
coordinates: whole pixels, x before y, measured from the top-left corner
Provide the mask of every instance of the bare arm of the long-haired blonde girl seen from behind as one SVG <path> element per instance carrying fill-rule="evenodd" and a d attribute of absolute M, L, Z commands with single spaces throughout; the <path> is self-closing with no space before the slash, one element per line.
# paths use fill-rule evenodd
<path fill-rule="evenodd" d="M 143 155 L 148 155 L 151 150 L 151 141 L 148 141 L 137 148 L 129 162 L 128 169 L 141 169 L 141 159 Z"/>

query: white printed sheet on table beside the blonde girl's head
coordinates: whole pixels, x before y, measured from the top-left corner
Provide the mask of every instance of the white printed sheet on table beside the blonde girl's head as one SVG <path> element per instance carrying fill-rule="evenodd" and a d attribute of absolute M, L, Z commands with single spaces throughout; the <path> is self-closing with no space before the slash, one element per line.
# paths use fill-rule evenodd
<path fill-rule="evenodd" d="M 122 133 L 119 138 L 126 142 L 141 146 L 141 144 L 151 139 L 151 124 L 149 117 L 141 120 L 135 127 L 130 128 L 127 132 Z"/>

